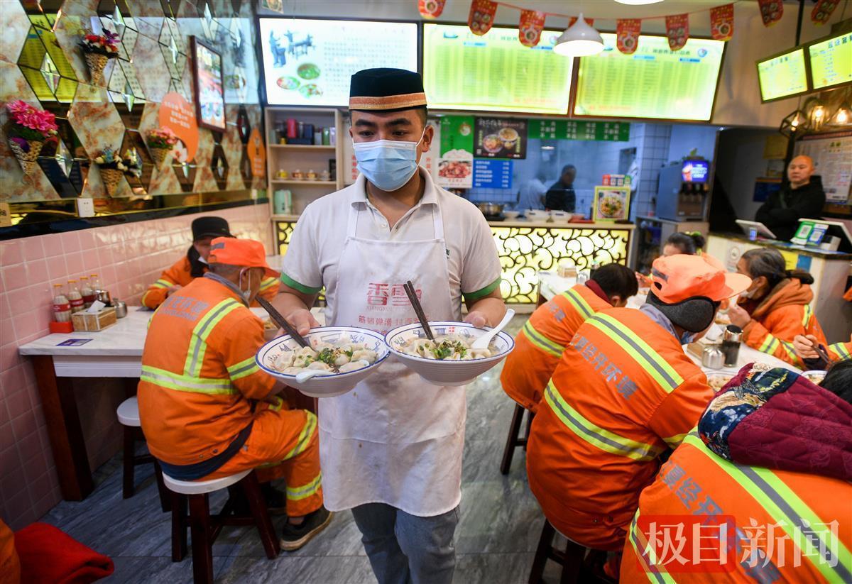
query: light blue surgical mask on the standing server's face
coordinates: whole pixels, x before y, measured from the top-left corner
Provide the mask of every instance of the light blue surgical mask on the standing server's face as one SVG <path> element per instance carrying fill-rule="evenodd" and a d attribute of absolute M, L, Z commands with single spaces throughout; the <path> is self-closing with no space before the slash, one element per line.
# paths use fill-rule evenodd
<path fill-rule="evenodd" d="M 420 140 L 423 140 L 423 135 Z M 396 191 L 417 172 L 417 146 L 420 140 L 353 142 L 358 169 L 366 180 L 383 191 Z"/>

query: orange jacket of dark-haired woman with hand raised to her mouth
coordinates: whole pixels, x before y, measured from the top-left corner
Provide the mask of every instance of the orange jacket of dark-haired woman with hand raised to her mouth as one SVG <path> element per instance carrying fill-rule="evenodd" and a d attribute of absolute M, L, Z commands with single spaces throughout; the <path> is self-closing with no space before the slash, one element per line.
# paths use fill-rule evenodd
<path fill-rule="evenodd" d="M 769 353 L 785 363 L 803 367 L 802 359 L 793 349 L 796 335 L 814 335 L 827 345 L 826 335 L 816 320 L 810 302 L 814 293 L 808 284 L 791 278 L 778 283 L 760 303 L 749 312 L 751 322 L 743 329 L 743 340 L 753 349 Z M 746 310 L 748 310 L 746 302 Z"/>

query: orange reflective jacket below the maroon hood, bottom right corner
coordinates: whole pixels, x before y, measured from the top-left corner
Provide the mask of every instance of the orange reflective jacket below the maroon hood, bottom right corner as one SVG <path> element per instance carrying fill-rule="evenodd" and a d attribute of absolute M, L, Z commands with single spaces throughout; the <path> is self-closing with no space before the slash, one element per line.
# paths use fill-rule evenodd
<path fill-rule="evenodd" d="M 697 435 L 690 433 L 639 497 L 636 518 L 630 523 L 630 534 L 625 541 L 619 581 L 621 584 L 852 581 L 850 501 L 852 484 L 843 480 L 734 464 L 713 454 Z M 708 572 L 706 564 L 703 570 L 682 570 L 683 565 L 689 566 L 694 559 L 706 562 L 706 555 L 695 557 L 697 553 L 691 545 L 682 550 L 686 564 L 672 564 L 671 550 L 667 555 L 660 553 L 659 542 L 665 539 L 665 534 L 659 531 L 659 525 L 684 523 L 684 530 L 690 532 L 694 530 L 691 519 L 684 516 L 696 515 L 707 524 L 713 522 L 711 516 L 733 518 L 736 529 L 728 541 L 735 548 L 728 550 L 727 570 Z M 655 521 L 653 535 L 651 521 Z M 812 535 L 805 535 L 808 530 L 793 527 L 801 526 L 803 521 L 809 522 Z M 835 521 L 836 532 L 832 534 L 830 524 Z M 698 530 L 702 534 L 702 528 Z M 717 534 L 704 528 L 702 535 L 718 537 Z M 653 539 L 657 544 L 652 549 L 659 555 L 655 571 L 650 571 L 653 554 L 644 552 Z M 811 545 L 808 539 L 816 545 Z M 705 552 L 699 554 L 718 548 L 717 541 L 702 541 Z M 837 553 L 837 561 L 826 553 L 832 549 Z M 719 554 L 718 549 L 715 553 Z"/>

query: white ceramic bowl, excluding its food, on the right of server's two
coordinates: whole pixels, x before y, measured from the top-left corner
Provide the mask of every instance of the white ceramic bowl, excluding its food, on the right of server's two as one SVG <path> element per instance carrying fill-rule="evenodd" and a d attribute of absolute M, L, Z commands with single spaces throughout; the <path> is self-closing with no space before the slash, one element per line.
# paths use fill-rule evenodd
<path fill-rule="evenodd" d="M 469 338 L 471 342 L 486 332 L 486 329 L 477 329 L 473 324 L 446 321 L 429 322 L 429 328 L 432 329 L 435 336 L 463 335 Z M 491 341 L 491 344 L 496 346 L 498 350 L 498 354 L 492 357 L 471 359 L 469 361 L 439 361 L 437 359 L 414 357 L 413 355 L 400 352 L 400 347 L 406 341 L 417 338 L 426 338 L 426 333 L 423 332 L 423 327 L 420 326 L 420 323 L 405 324 L 397 327 L 385 335 L 384 341 L 388 344 L 390 352 L 393 353 L 395 358 L 399 359 L 408 369 L 417 372 L 424 381 L 428 381 L 436 386 L 466 385 L 506 358 L 506 355 L 515 348 L 515 340 L 512 339 L 511 335 L 501 330 Z"/>

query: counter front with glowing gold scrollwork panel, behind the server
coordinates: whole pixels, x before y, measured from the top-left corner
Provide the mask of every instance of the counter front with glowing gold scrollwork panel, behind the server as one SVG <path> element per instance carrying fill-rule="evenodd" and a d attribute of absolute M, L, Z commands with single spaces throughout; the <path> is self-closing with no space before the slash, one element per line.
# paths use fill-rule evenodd
<path fill-rule="evenodd" d="M 298 217 L 273 215 L 278 253 L 284 255 Z M 559 261 L 573 261 L 583 269 L 602 264 L 629 263 L 630 238 L 636 226 L 616 223 L 548 223 L 545 221 L 489 221 L 500 264 L 501 289 L 512 304 L 535 305 L 539 271 L 556 270 Z"/>

